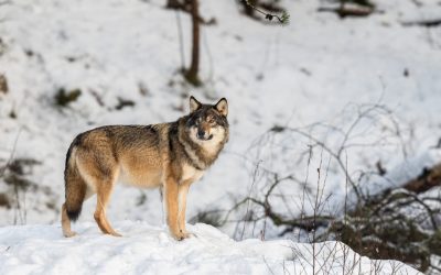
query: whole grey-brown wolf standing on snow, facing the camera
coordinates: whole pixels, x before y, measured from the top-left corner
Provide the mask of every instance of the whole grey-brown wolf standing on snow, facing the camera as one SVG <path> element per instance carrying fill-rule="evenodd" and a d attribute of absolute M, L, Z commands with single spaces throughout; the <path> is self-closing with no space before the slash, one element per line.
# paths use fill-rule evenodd
<path fill-rule="evenodd" d="M 107 125 L 78 134 L 72 142 L 64 170 L 65 202 L 62 229 L 76 233 L 83 202 L 97 195 L 94 218 L 103 233 L 120 237 L 106 218 L 117 182 L 161 188 L 171 235 L 181 241 L 185 230 L 190 186 L 213 165 L 229 138 L 228 102 L 205 105 L 190 97 L 190 113 L 174 122 L 151 125 Z"/>

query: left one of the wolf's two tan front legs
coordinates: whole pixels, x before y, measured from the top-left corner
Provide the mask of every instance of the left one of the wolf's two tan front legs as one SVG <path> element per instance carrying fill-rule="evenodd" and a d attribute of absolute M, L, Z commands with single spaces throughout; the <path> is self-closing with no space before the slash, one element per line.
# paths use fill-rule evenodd
<path fill-rule="evenodd" d="M 178 220 L 179 216 L 179 185 L 178 182 L 169 177 L 164 184 L 164 197 L 166 207 L 166 223 L 169 224 L 170 233 L 178 241 L 189 238 L 186 233 L 180 230 Z"/>

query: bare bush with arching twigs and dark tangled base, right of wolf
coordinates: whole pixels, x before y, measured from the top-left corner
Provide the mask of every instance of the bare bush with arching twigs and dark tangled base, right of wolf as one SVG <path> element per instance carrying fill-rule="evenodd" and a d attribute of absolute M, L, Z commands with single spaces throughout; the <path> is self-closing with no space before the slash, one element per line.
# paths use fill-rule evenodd
<path fill-rule="evenodd" d="M 272 227 L 278 235 L 312 242 L 313 255 L 320 253 L 315 242 L 341 240 L 362 255 L 400 260 L 420 271 L 438 270 L 431 258 L 440 256 L 435 248 L 441 246 L 440 196 L 433 194 L 441 185 L 441 165 L 389 183 L 387 156 L 400 152 L 402 160 L 408 157 L 412 129 L 402 128 L 383 105 L 348 109 L 352 116 L 346 109 L 337 127 L 275 125 L 256 140 L 250 160 L 265 160 L 254 163 L 259 177 L 254 177 L 249 195 L 236 200 L 225 222 L 237 222 L 235 238 L 246 229 L 248 234 L 265 235 Z M 314 168 L 316 173 L 311 173 Z M 383 180 L 379 186 L 373 183 L 376 179 Z M 342 195 L 340 204 L 331 199 Z"/>

